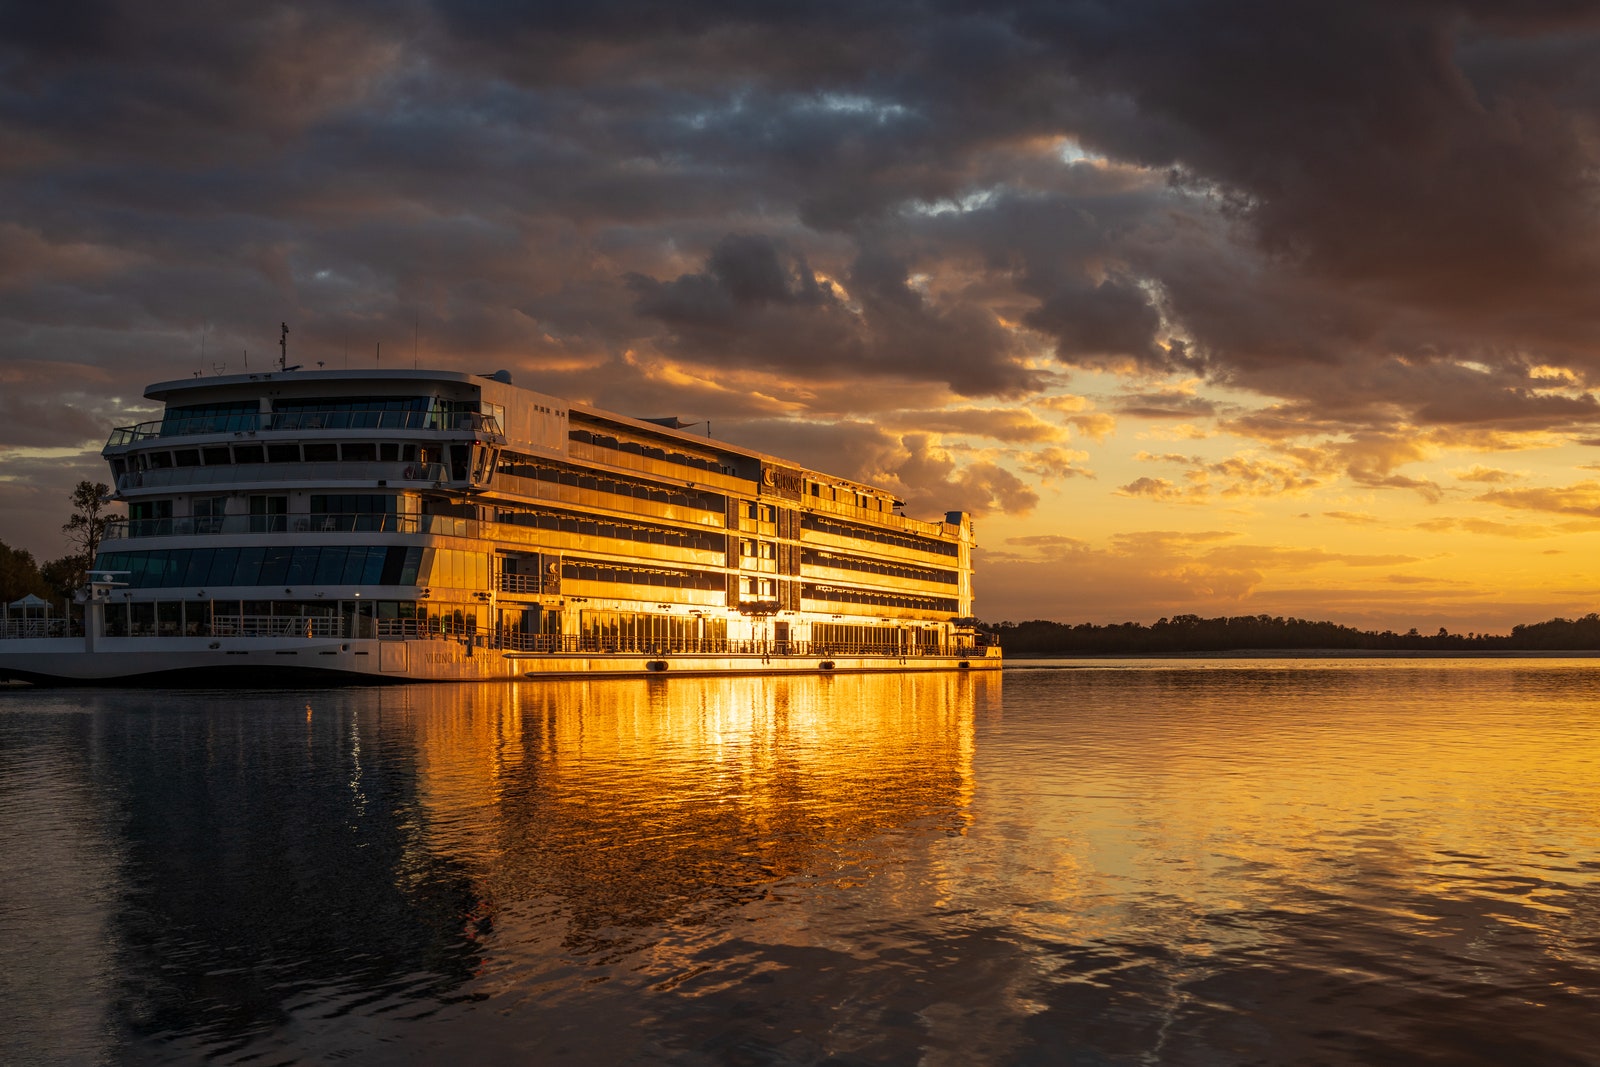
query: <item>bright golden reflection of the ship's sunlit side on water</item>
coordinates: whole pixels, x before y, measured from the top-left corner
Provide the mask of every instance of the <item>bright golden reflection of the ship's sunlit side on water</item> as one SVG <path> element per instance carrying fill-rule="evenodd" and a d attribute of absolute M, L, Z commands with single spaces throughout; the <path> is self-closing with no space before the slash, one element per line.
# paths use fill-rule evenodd
<path fill-rule="evenodd" d="M 400 694 L 435 851 L 491 902 L 555 902 L 573 947 L 850 885 L 872 838 L 960 833 L 998 675 L 651 678 Z M 491 909 L 496 907 L 491 904 Z"/>

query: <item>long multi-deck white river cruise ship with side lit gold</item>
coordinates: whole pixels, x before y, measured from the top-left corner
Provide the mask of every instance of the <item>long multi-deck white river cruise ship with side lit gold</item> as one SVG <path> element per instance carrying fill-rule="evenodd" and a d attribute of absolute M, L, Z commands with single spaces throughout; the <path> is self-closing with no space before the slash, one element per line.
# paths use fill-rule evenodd
<path fill-rule="evenodd" d="M 514 386 L 504 371 L 160 382 L 78 609 L 6 624 L 35 683 L 997 669 L 973 523 Z"/>

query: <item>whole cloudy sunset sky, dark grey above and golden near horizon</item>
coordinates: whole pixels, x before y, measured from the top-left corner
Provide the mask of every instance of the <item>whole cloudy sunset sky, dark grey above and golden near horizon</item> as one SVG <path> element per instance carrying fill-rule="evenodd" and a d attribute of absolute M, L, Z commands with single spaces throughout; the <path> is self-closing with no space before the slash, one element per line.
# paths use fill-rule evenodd
<path fill-rule="evenodd" d="M 11 5 L 0 541 L 288 322 L 970 510 L 987 621 L 1587 614 L 1597 118 L 1554 2 Z"/>

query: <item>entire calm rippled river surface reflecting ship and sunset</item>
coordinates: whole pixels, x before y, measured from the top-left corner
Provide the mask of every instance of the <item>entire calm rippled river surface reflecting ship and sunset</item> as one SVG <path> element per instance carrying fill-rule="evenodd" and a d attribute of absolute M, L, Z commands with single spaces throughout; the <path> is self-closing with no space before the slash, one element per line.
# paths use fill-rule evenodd
<path fill-rule="evenodd" d="M 3 1064 L 1600 1064 L 1600 661 L 0 689 Z"/>

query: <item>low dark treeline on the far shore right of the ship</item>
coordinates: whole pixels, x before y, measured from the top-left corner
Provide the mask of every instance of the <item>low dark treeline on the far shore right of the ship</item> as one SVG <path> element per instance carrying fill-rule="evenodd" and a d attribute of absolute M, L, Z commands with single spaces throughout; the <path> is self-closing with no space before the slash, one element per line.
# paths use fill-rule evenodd
<path fill-rule="evenodd" d="M 1243 649 L 1336 648 L 1355 651 L 1587 651 L 1600 649 L 1600 614 L 1550 619 L 1506 633 L 1405 633 L 1357 630 L 1338 622 L 1246 614 L 1202 619 L 1181 614 L 1142 622 L 1000 622 L 984 625 L 1011 656 L 1085 653 L 1229 653 Z"/>

